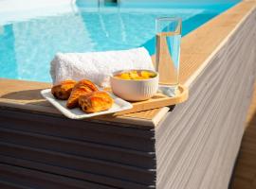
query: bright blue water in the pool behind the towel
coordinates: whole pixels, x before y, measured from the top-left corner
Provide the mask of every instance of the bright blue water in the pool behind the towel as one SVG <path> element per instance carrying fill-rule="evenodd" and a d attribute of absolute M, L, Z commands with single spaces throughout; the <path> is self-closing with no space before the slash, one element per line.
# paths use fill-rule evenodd
<path fill-rule="evenodd" d="M 145 46 L 154 54 L 156 17 L 181 17 L 184 36 L 237 3 L 89 2 L 77 0 L 60 9 L 19 10 L 14 17 L 0 11 L 0 77 L 51 81 L 49 62 L 57 52 Z"/>

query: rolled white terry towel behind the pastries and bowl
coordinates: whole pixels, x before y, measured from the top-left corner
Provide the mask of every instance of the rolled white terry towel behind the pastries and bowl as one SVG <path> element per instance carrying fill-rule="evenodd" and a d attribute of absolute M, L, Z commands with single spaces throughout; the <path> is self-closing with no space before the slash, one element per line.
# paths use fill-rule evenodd
<path fill-rule="evenodd" d="M 154 66 L 144 47 L 106 52 L 58 53 L 51 61 L 50 75 L 53 84 L 68 78 L 88 78 L 101 87 L 108 87 L 111 74 L 124 69 L 154 70 Z"/>

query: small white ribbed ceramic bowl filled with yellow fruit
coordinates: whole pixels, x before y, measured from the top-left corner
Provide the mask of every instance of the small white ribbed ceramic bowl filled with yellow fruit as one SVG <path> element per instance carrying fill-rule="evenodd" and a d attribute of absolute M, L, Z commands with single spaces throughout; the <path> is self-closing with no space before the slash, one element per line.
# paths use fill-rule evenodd
<path fill-rule="evenodd" d="M 113 77 L 110 77 L 110 83 L 112 92 L 118 95 L 120 98 L 128 100 L 128 101 L 141 101 L 147 100 L 151 98 L 154 94 L 156 94 L 158 90 L 158 81 L 159 76 L 158 73 L 151 70 L 144 70 L 148 72 L 155 73 L 156 77 L 148 78 L 148 79 L 122 79 L 119 77 L 115 77 L 116 75 L 122 72 L 129 72 L 134 70 L 122 70 L 119 72 L 113 73 Z M 137 70 L 143 71 L 143 70 Z"/>

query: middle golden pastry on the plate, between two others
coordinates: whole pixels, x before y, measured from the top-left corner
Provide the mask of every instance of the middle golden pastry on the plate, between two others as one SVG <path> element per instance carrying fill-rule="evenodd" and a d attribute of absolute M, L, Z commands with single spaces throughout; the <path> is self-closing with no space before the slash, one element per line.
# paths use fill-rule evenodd
<path fill-rule="evenodd" d="M 82 79 L 73 88 L 67 102 L 66 107 L 68 109 L 73 109 L 78 106 L 79 96 L 82 94 L 90 94 L 92 92 L 98 91 L 96 85 L 87 79 Z"/>

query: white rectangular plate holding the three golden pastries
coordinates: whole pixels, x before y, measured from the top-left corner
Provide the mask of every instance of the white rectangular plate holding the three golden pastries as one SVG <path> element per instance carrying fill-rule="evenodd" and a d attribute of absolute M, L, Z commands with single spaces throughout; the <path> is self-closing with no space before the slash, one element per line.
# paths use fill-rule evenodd
<path fill-rule="evenodd" d="M 102 114 L 108 114 L 113 112 L 121 112 L 125 110 L 129 110 L 133 108 L 133 105 L 118 96 L 108 93 L 111 95 L 111 97 L 114 99 L 114 104 L 111 109 L 108 111 L 103 112 L 95 112 L 95 113 L 86 113 L 82 112 L 80 108 L 75 109 L 67 109 L 65 104 L 66 100 L 58 100 L 56 99 L 52 94 L 50 89 L 46 89 L 41 91 L 41 94 L 46 98 L 47 101 L 49 101 L 56 109 L 58 109 L 60 112 L 64 113 L 64 115 L 71 119 L 83 119 L 88 117 L 93 117 L 97 115 Z"/>

